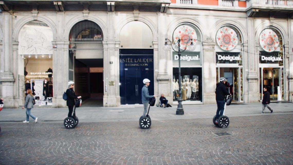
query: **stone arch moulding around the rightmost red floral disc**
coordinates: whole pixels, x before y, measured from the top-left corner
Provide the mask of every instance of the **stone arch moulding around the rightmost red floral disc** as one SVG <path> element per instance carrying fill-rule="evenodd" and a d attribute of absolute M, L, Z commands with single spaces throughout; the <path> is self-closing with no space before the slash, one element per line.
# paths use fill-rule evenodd
<path fill-rule="evenodd" d="M 289 38 L 286 30 L 278 23 L 273 23 L 273 25 L 271 25 L 269 22 L 261 23 L 257 28 L 255 28 L 255 43 L 258 43 L 258 37 L 263 29 L 268 27 L 275 28 L 277 31 L 279 31 L 283 39 L 283 44 L 289 44 Z"/>

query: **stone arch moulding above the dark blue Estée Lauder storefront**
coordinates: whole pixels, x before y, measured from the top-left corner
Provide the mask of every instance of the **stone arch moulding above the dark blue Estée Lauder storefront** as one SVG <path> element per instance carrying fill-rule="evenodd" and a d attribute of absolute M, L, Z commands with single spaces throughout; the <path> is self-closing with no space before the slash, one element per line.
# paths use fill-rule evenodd
<path fill-rule="evenodd" d="M 134 18 L 133 16 L 129 16 L 127 17 L 125 20 L 122 20 L 118 23 L 118 26 L 117 28 L 115 29 L 115 38 L 117 40 L 119 40 L 119 35 L 120 35 L 120 32 L 123 28 L 123 26 L 125 26 L 127 23 L 131 22 L 131 21 L 134 21 Z M 143 23 L 145 23 L 147 26 L 149 26 L 149 28 L 151 29 L 152 33 L 153 33 L 153 39 L 154 41 L 157 41 L 158 39 L 158 31 L 156 30 L 156 25 L 148 18 L 145 18 L 143 16 L 140 16 L 138 18 L 138 21 L 141 21 Z"/>

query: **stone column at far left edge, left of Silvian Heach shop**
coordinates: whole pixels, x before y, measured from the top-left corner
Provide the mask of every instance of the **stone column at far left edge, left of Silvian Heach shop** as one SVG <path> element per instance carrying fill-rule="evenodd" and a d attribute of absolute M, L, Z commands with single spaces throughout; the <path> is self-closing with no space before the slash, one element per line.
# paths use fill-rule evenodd
<path fill-rule="evenodd" d="M 2 11 L 2 19 L 5 22 L 2 25 L 3 30 L 3 51 L 1 53 L 1 97 L 5 99 L 6 108 L 16 108 L 18 105 L 15 104 L 14 98 L 18 96 L 17 91 L 13 87 L 15 83 L 15 78 L 13 75 L 13 67 L 16 67 L 13 63 L 13 46 L 12 46 L 12 29 L 13 29 L 13 16 L 6 12 Z"/>

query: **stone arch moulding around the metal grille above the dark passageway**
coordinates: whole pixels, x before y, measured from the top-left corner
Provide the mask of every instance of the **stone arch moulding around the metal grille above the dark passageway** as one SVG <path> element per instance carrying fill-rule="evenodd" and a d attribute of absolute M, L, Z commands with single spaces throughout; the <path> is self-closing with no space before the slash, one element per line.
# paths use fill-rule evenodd
<path fill-rule="evenodd" d="M 84 21 L 86 19 L 84 19 L 84 16 L 78 16 L 78 17 L 74 17 L 72 18 L 69 23 L 67 24 L 67 26 L 64 28 L 64 40 L 69 41 L 69 33 L 72 29 L 72 27 L 80 22 L 80 21 Z M 97 17 L 93 17 L 93 16 L 88 16 L 88 21 L 93 21 L 94 23 L 98 24 L 98 26 L 100 26 L 100 28 L 102 29 L 103 32 L 103 38 L 104 40 L 108 39 L 108 30 L 107 30 L 107 26 L 106 24 L 99 18 Z"/>

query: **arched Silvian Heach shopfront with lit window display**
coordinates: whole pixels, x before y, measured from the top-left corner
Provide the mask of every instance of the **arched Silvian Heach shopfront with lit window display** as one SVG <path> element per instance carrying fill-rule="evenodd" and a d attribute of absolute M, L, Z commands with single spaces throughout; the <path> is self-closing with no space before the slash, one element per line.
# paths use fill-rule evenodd
<path fill-rule="evenodd" d="M 18 67 L 24 68 L 24 72 L 19 73 L 20 80 L 23 80 L 19 81 L 19 90 L 22 91 L 20 100 L 24 101 L 25 91 L 31 89 L 36 100 L 35 105 L 52 106 L 52 29 L 42 21 L 30 21 L 21 28 L 18 41 L 18 54 L 22 59 Z"/>

